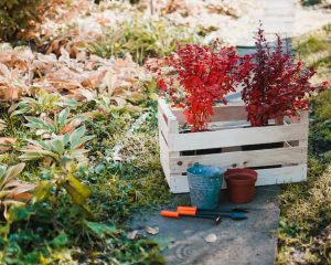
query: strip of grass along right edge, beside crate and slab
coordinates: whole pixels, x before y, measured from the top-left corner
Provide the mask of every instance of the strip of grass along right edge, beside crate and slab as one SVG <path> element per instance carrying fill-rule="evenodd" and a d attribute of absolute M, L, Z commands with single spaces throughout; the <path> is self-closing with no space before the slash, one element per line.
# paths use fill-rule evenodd
<path fill-rule="evenodd" d="M 316 82 L 330 80 L 330 25 L 298 42 L 317 67 Z M 312 60 L 313 59 L 313 60 Z M 282 187 L 277 264 L 331 264 L 331 89 L 311 100 L 307 182 Z"/>

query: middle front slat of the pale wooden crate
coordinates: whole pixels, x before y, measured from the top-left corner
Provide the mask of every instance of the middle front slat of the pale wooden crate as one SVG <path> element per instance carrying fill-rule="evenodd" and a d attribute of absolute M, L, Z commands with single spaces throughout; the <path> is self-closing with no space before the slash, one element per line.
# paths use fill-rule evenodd
<path fill-rule="evenodd" d="M 254 151 L 233 151 L 223 153 L 170 157 L 170 173 L 185 172 L 195 162 L 223 168 L 248 168 L 274 165 L 305 163 L 307 147 L 273 148 Z"/>

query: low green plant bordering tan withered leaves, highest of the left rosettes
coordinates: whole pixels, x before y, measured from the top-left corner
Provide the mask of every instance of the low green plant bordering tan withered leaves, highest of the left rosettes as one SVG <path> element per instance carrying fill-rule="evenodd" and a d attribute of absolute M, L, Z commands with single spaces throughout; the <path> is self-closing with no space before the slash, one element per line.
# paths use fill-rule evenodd
<path fill-rule="evenodd" d="M 15 115 L 41 115 L 54 114 L 66 107 L 76 107 L 78 103 L 75 99 L 64 99 L 60 94 L 49 94 L 45 91 L 39 91 L 35 98 L 23 97 L 14 107 L 11 116 Z"/>

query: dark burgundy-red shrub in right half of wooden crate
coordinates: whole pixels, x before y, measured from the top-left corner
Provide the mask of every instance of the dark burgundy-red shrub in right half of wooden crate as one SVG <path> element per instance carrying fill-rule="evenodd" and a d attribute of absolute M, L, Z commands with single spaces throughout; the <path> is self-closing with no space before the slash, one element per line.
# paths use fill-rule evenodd
<path fill-rule="evenodd" d="M 313 68 L 305 67 L 300 61 L 282 51 L 282 42 L 277 35 L 274 51 L 265 39 L 264 31 L 258 29 L 256 35 L 256 53 L 253 62 L 246 57 L 246 64 L 252 65 L 250 74 L 244 77 L 242 98 L 246 104 L 247 120 L 253 126 L 264 126 L 270 118 L 295 116 L 298 109 L 308 109 L 308 96 L 327 86 L 310 84 L 314 75 Z"/>

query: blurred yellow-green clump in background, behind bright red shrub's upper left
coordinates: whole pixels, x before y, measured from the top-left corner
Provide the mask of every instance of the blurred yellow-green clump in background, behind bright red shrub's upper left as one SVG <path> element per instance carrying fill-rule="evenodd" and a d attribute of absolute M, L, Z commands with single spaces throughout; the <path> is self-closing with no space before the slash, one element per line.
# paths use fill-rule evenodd
<path fill-rule="evenodd" d="M 173 25 L 164 19 L 143 19 L 137 15 L 122 23 L 106 28 L 100 40 L 89 44 L 89 51 L 103 57 L 130 53 L 142 64 L 148 57 L 164 57 L 177 44 L 194 43 L 200 36 L 189 28 Z"/>

